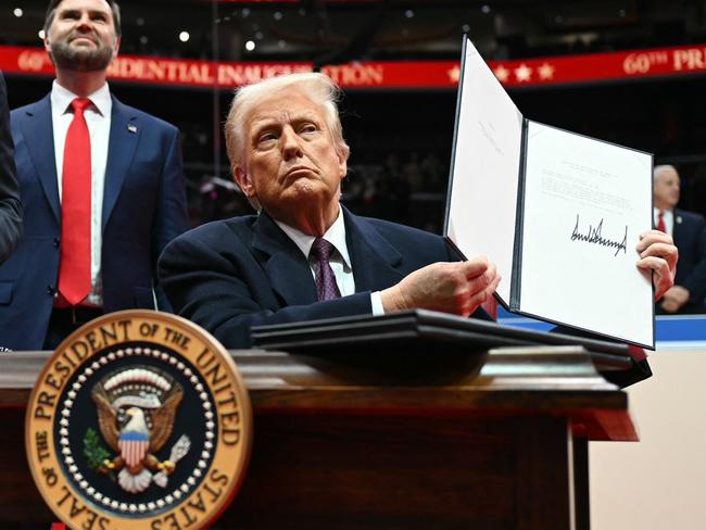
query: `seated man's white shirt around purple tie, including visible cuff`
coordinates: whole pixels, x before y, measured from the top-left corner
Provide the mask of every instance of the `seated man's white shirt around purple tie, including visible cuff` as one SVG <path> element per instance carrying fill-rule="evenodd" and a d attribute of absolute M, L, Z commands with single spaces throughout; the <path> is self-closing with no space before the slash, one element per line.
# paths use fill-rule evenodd
<path fill-rule="evenodd" d="M 299 250 L 302 251 L 308 265 L 312 269 L 312 276 L 316 278 L 316 261 L 310 256 L 312 245 L 316 239 L 314 236 L 308 236 L 297 228 L 293 228 L 285 223 L 280 223 L 275 219 L 277 226 L 282 229 L 282 231 L 291 239 Z M 339 209 L 338 217 L 333 224 L 326 230 L 323 239 L 331 243 L 336 252 L 331 254 L 329 263 L 331 269 L 333 270 L 333 276 L 336 276 L 336 283 L 338 289 L 341 292 L 341 296 L 348 296 L 350 294 L 355 294 L 355 278 L 353 277 L 353 268 L 351 267 L 351 255 L 348 251 L 348 244 L 345 242 L 345 223 L 343 220 L 343 214 L 341 209 Z M 370 304 L 373 306 L 374 315 L 383 315 L 384 310 L 382 308 L 382 300 L 380 299 L 380 292 L 375 291 L 370 293 Z"/>

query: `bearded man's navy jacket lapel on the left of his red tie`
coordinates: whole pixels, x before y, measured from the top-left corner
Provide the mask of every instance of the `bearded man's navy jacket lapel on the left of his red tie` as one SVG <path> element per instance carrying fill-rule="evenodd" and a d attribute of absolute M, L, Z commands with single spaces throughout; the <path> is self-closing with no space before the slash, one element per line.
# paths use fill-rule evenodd
<path fill-rule="evenodd" d="M 51 118 L 49 94 L 29 106 L 21 121 L 27 151 L 37 171 L 39 181 L 58 223 L 61 223 L 56 157 L 54 155 L 54 127 Z"/>

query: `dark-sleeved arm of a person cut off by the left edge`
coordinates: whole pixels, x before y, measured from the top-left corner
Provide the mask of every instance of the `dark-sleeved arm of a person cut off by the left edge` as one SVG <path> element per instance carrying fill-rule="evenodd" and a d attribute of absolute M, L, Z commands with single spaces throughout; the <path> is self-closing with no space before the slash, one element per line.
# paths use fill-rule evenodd
<path fill-rule="evenodd" d="M 0 263 L 8 258 L 22 237 L 22 207 L 14 152 L 10 134 L 8 88 L 0 73 Z"/>

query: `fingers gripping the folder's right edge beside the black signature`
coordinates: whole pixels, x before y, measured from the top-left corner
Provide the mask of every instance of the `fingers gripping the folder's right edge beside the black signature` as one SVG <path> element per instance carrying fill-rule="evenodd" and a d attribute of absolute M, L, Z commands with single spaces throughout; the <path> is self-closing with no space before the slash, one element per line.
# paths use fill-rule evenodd
<path fill-rule="evenodd" d="M 675 285 L 679 251 L 671 236 L 659 230 L 650 230 L 640 235 L 638 243 L 640 261 L 638 267 L 654 272 L 655 300 L 659 300 Z"/>

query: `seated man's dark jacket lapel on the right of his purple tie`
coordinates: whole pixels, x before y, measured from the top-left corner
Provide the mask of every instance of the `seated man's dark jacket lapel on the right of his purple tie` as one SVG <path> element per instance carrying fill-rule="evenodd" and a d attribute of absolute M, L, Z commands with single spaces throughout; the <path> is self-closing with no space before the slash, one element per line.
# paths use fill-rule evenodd
<path fill-rule="evenodd" d="M 375 227 L 362 217 L 350 213 L 345 207 L 345 241 L 353 266 L 355 290 L 380 291 L 398 283 L 403 277 L 396 267 L 402 255 Z"/>

